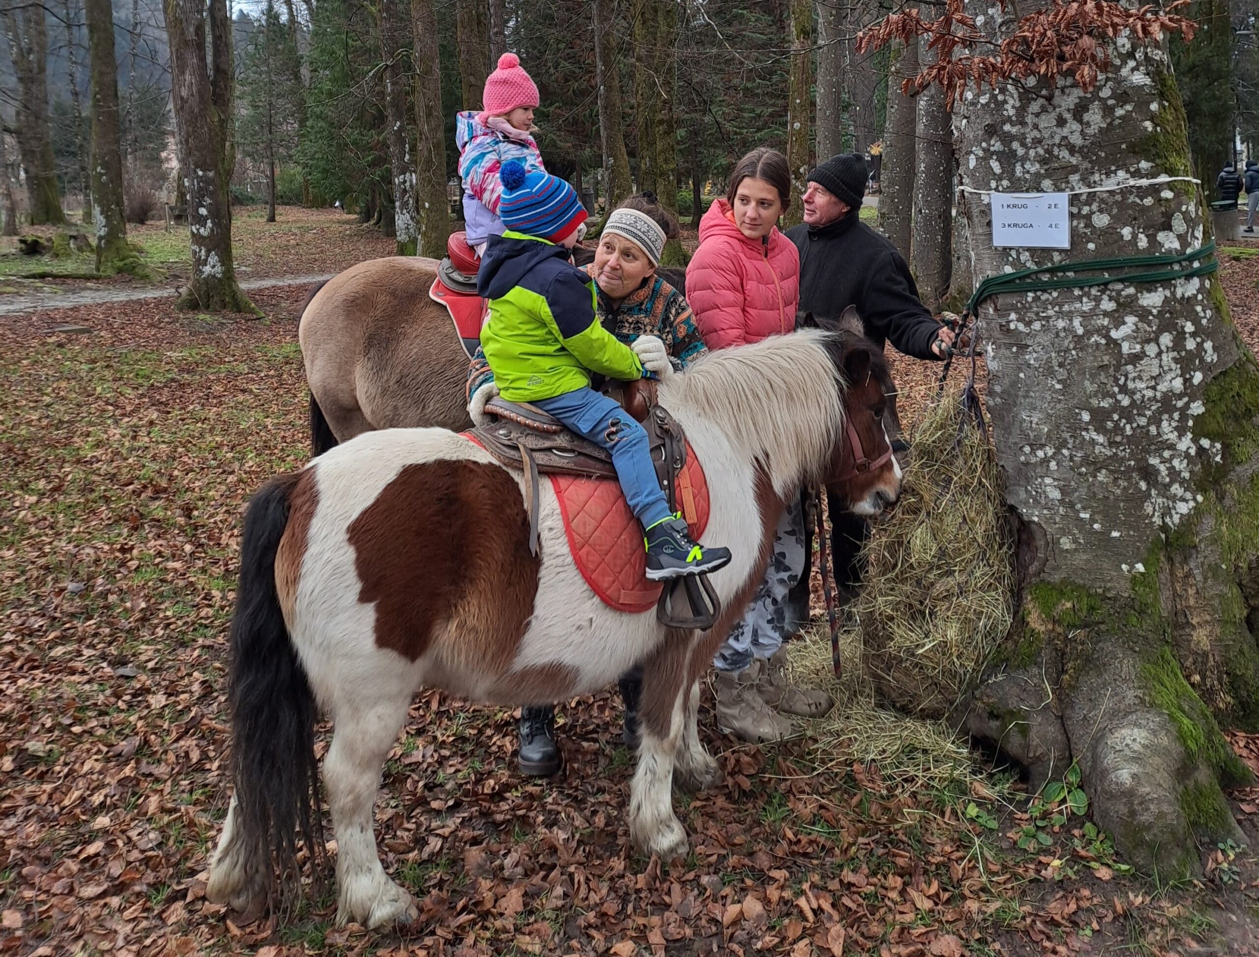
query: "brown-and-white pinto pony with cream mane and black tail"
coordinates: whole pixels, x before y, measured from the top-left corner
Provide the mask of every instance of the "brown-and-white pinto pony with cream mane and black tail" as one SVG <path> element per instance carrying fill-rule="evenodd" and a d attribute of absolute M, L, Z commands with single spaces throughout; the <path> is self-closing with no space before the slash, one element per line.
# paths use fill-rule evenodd
<path fill-rule="evenodd" d="M 414 691 L 499 705 L 596 691 L 646 669 L 630 832 L 645 854 L 686 852 L 675 777 L 719 774 L 700 743 L 699 680 L 764 575 L 783 502 L 808 482 L 881 512 L 900 492 L 883 427 L 891 380 L 850 332 L 805 330 L 714 353 L 660 383 L 658 399 L 703 463 L 705 538 L 734 559 L 711 574 L 724 613 L 709 631 L 609 609 L 587 587 L 559 504 L 541 484 L 538 555 L 522 480 L 463 436 L 368 432 L 272 480 L 249 504 L 232 622 L 234 793 L 206 895 L 237 909 L 296 873 L 300 834 L 322 852 L 315 723 L 334 723 L 324 783 L 336 837 L 340 920 L 415 918 L 373 835 L 384 759 Z"/>

